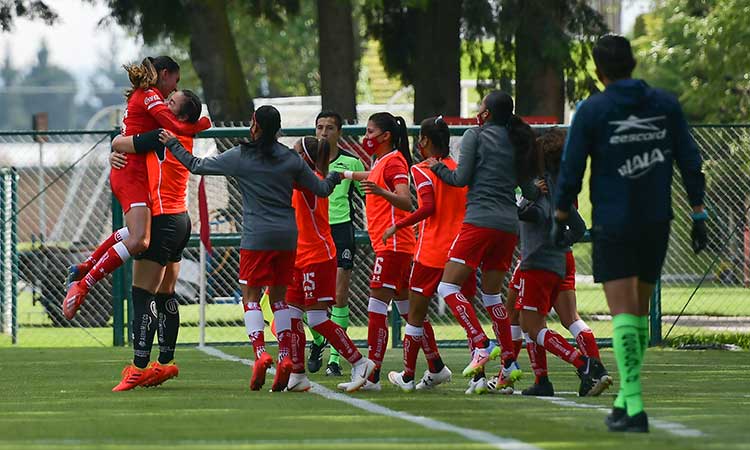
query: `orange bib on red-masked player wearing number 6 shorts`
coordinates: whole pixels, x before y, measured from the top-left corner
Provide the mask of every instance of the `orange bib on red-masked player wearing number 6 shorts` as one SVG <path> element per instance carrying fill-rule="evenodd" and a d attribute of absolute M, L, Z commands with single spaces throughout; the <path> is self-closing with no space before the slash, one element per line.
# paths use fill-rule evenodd
<path fill-rule="evenodd" d="M 404 156 L 394 150 L 379 158 L 372 166 L 369 181 L 378 186 L 394 191 L 396 185 L 409 182 L 408 164 Z M 366 198 L 367 230 L 370 234 L 372 249 L 375 253 L 383 251 L 409 253 L 414 251 L 416 238 L 411 227 L 399 229 L 387 243 L 383 245 L 383 234 L 391 225 L 407 217 L 409 211 L 396 208 L 385 198 L 368 194 Z"/>

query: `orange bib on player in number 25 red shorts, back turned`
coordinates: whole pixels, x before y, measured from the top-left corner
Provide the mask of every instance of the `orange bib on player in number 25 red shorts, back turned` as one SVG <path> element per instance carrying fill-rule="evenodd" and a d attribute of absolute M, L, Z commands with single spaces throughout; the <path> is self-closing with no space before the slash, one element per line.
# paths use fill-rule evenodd
<path fill-rule="evenodd" d="M 294 189 L 292 206 L 297 221 L 297 257 L 294 267 L 303 268 L 336 257 L 336 246 L 328 224 L 328 199 L 306 189 Z"/>

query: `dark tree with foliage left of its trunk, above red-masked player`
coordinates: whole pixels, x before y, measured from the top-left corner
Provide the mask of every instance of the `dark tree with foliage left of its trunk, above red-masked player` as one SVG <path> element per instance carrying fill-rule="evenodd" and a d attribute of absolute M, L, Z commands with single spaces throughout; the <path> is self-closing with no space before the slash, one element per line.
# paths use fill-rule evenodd
<path fill-rule="evenodd" d="M 461 0 L 368 0 L 368 34 L 386 71 L 414 86 L 414 121 L 457 116 L 461 101 Z"/>

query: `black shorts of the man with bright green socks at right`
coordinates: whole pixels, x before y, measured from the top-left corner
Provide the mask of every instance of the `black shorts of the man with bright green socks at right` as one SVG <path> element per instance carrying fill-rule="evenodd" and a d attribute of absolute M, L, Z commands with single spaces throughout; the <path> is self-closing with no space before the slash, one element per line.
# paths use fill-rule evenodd
<path fill-rule="evenodd" d="M 654 284 L 661 276 L 669 244 L 669 222 L 636 225 L 626 230 L 592 230 L 594 281 L 622 278 Z"/>

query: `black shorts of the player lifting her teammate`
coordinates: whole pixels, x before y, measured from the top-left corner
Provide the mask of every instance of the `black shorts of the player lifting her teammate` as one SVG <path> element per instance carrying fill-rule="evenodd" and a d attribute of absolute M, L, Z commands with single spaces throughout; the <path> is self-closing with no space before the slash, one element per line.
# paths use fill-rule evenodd
<path fill-rule="evenodd" d="M 162 214 L 151 218 L 151 244 L 135 259 L 147 259 L 162 266 L 180 262 L 182 251 L 190 239 L 188 213 Z"/>

